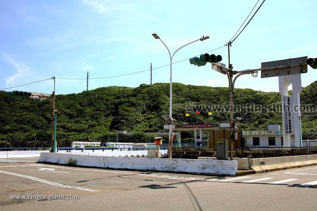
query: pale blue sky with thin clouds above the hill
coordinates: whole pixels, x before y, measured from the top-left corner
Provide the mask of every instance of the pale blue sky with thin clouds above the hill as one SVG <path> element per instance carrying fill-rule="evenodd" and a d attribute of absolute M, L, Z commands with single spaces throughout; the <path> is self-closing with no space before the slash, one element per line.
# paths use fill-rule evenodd
<path fill-rule="evenodd" d="M 209 52 L 233 37 L 256 0 L 193 2 L 161 1 L 0 1 L 0 89 L 55 76 L 56 94 L 78 93 L 104 86 L 137 87 L 169 83 L 169 56 L 186 43 L 210 36 L 178 51 L 173 82 L 228 86 L 225 75 L 210 65 L 197 67 L 189 58 Z M 259 1 L 256 8 L 260 5 Z M 302 56 L 317 57 L 316 1 L 266 0 L 249 25 L 232 43 L 234 70 L 256 69 L 261 62 Z M 220 54 L 228 66 L 228 49 Z M 156 69 L 155 69 L 156 68 Z M 144 71 L 127 76 L 117 76 Z M 317 80 L 317 70 L 301 74 L 302 86 Z M 67 80 L 58 78 L 82 78 Z M 93 79 L 103 78 L 103 79 Z M 278 78 L 241 76 L 236 88 L 278 91 Z M 52 93 L 53 80 L 6 89 Z"/>

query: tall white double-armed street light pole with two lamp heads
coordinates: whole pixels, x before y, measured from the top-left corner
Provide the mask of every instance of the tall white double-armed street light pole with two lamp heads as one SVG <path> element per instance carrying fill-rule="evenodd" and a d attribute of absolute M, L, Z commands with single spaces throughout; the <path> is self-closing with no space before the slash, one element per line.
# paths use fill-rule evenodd
<path fill-rule="evenodd" d="M 171 148 L 172 148 L 172 122 L 173 122 L 173 118 L 172 118 L 172 60 L 173 60 L 173 57 L 175 55 L 176 52 L 178 52 L 181 48 L 185 47 L 185 46 L 188 46 L 190 45 L 191 43 L 194 43 L 194 42 L 197 42 L 198 40 L 200 41 L 204 41 L 204 40 L 207 40 L 209 38 L 209 36 L 206 36 L 206 37 L 202 37 L 198 40 L 195 40 L 195 41 L 192 41 L 190 43 L 187 43 L 186 45 L 183 45 L 182 47 L 178 48 L 174 53 L 173 55 L 171 55 L 171 52 L 170 50 L 168 49 L 168 47 L 165 45 L 165 43 L 163 42 L 163 40 L 161 40 L 161 38 L 157 35 L 157 34 L 152 34 L 153 37 L 155 39 L 159 39 L 163 44 L 164 46 L 166 47 L 167 51 L 168 51 L 168 54 L 170 56 L 170 110 L 169 110 L 169 153 L 168 153 L 168 158 L 171 158 Z"/>

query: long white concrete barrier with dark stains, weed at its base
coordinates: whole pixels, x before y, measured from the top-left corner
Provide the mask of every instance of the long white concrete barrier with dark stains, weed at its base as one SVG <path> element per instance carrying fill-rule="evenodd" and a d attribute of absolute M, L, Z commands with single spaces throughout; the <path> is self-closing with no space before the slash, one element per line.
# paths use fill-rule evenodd
<path fill-rule="evenodd" d="M 80 155 L 66 153 L 41 153 L 39 162 L 67 164 L 72 158 L 77 165 L 94 166 L 113 169 L 132 169 L 148 171 L 187 172 L 196 174 L 236 176 L 237 161 L 229 160 L 198 160 L 168 158 L 131 158 Z"/>

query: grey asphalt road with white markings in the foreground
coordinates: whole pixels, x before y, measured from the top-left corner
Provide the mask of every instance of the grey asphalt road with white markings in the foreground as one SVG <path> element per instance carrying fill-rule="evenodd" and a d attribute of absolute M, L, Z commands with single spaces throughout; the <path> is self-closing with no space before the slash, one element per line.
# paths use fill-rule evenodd
<path fill-rule="evenodd" d="M 67 167 L 37 160 L 0 159 L 0 210 L 316 210 L 317 205 L 317 166 L 213 177 Z M 35 199 L 61 194 L 80 199 Z"/>

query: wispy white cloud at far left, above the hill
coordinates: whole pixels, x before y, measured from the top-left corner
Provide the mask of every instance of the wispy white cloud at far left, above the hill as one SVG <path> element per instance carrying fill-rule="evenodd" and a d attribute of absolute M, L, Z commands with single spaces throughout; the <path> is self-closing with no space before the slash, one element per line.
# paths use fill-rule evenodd
<path fill-rule="evenodd" d="M 16 73 L 5 79 L 6 86 L 15 85 L 15 81 L 21 77 L 24 77 L 30 71 L 30 67 L 21 62 L 16 61 L 10 55 L 2 53 L 3 59 L 14 66 Z"/>

